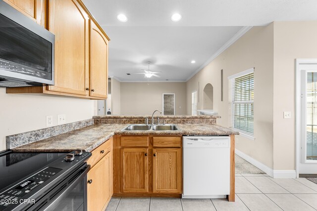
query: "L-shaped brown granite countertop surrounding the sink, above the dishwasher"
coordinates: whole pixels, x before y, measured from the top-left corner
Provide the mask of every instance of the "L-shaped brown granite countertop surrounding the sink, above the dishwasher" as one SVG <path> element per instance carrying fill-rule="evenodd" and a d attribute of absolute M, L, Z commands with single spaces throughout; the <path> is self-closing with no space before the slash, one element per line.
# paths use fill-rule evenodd
<path fill-rule="evenodd" d="M 70 152 L 83 149 L 91 152 L 115 134 L 120 135 L 230 135 L 238 132 L 210 124 L 176 124 L 177 131 L 121 131 L 129 124 L 98 124 L 83 127 L 51 138 L 26 144 L 15 152 Z"/>

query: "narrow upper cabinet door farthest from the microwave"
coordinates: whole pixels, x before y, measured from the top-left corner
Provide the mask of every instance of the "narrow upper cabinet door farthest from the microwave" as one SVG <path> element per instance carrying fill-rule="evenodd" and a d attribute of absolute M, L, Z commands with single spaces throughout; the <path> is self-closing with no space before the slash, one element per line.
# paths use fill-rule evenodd
<path fill-rule="evenodd" d="M 90 96 L 106 98 L 108 87 L 108 40 L 90 21 Z"/>

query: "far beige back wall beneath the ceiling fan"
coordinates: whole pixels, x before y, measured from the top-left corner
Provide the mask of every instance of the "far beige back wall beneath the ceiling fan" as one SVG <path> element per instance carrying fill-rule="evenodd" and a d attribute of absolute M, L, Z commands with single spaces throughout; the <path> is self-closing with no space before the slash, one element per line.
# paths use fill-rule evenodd
<path fill-rule="evenodd" d="M 175 115 L 186 114 L 185 82 L 121 82 L 121 114 L 151 115 L 162 110 L 163 93 L 175 93 Z"/>

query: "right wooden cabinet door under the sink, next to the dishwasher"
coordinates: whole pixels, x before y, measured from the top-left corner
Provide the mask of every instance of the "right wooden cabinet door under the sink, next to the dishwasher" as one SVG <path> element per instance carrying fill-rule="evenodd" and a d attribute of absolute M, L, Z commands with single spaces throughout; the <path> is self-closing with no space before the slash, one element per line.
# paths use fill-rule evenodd
<path fill-rule="evenodd" d="M 181 149 L 153 149 L 153 193 L 181 193 Z"/>

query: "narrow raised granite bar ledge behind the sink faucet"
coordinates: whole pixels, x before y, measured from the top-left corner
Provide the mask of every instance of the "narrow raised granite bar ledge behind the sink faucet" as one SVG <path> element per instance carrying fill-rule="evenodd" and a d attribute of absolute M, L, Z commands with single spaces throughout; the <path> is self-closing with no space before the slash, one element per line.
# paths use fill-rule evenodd
<path fill-rule="evenodd" d="M 142 118 L 152 118 L 152 116 L 142 116 L 142 115 L 103 115 L 103 116 L 93 116 L 93 119 L 142 119 Z M 155 118 L 161 118 L 161 119 L 214 119 L 214 118 L 221 118 L 221 116 L 218 115 L 158 115 L 158 113 L 155 114 Z"/>

